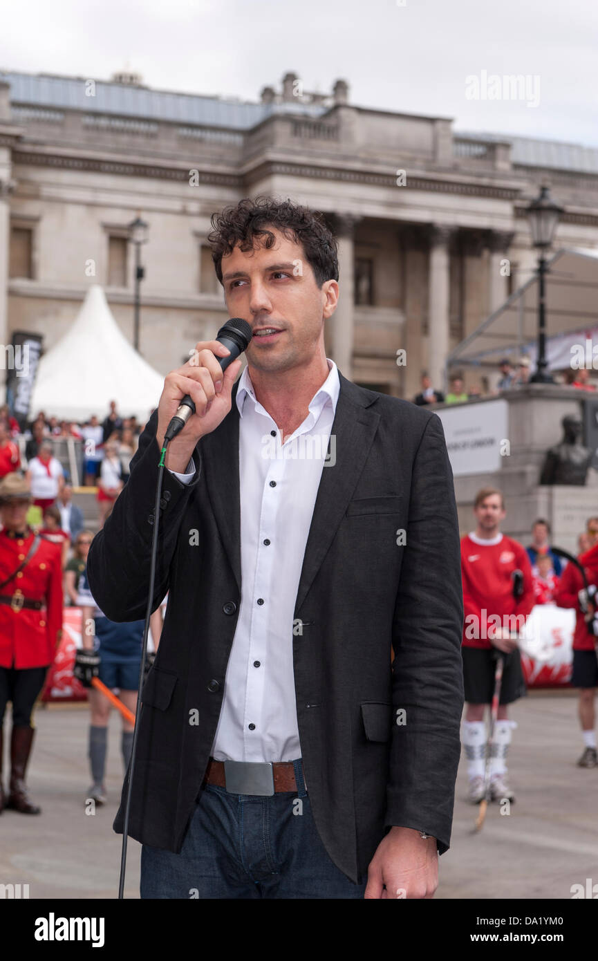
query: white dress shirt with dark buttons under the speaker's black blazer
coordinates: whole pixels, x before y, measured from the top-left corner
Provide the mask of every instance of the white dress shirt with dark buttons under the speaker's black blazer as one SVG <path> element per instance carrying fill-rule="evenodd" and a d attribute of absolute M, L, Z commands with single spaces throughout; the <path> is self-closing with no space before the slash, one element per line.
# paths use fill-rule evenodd
<path fill-rule="evenodd" d="M 247 367 L 239 379 L 241 600 L 212 744 L 219 761 L 301 757 L 293 616 L 340 391 L 336 364 L 327 362 L 329 375 L 308 416 L 282 445 L 281 431 L 256 400 Z M 189 468 L 172 473 L 188 483 L 192 461 Z"/>

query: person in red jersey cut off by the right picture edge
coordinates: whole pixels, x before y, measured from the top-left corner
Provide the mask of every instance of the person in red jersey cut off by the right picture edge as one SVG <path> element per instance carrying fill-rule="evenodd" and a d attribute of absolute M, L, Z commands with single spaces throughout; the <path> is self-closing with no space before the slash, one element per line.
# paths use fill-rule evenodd
<path fill-rule="evenodd" d="M 598 584 L 598 517 L 590 517 L 587 521 L 587 537 L 592 545 L 585 553 L 580 554 L 578 560 L 586 571 L 587 584 Z M 567 564 L 562 572 L 555 601 L 560 607 L 575 607 L 576 622 L 573 634 L 573 675 L 571 683 L 579 688 L 579 717 L 584 738 L 584 753 L 578 760 L 580 768 L 595 768 L 598 764 L 596 753 L 596 723 L 594 698 L 598 687 L 598 657 L 596 657 L 596 641 L 598 640 L 586 623 L 586 617 L 580 604 L 580 591 L 584 589 L 582 575 L 575 564 Z M 594 599 L 595 600 L 595 599 Z M 587 604 L 585 604 L 587 606 Z"/>

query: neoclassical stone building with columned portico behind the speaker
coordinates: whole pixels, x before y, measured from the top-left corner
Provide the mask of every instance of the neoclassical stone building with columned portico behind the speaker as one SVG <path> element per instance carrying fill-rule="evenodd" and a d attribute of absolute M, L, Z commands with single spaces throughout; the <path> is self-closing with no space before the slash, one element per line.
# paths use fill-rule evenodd
<path fill-rule="evenodd" d="M 25 330 L 51 347 L 89 283 L 133 338 L 128 225 L 140 215 L 140 350 L 165 373 L 226 319 L 210 215 L 267 193 L 336 230 L 329 356 L 352 380 L 411 397 L 423 369 L 441 383 L 448 351 L 529 278 L 524 209 L 542 182 L 565 208 L 558 243 L 598 246 L 598 150 L 459 134 L 450 118 L 355 106 L 344 81 L 309 93 L 292 73 L 256 103 L 133 75 L 0 73 L 0 344 Z"/>

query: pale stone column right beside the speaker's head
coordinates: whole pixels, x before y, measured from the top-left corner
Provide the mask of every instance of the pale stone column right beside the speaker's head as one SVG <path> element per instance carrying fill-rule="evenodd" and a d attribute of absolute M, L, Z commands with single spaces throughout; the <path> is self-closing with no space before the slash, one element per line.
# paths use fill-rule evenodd
<path fill-rule="evenodd" d="M 333 360 L 340 373 L 349 381 L 353 370 L 354 318 L 354 233 L 355 225 L 361 217 L 352 214 L 338 214 L 335 218 L 335 232 L 338 243 L 338 286 L 340 294 L 338 305 L 329 321 L 332 321 Z"/>

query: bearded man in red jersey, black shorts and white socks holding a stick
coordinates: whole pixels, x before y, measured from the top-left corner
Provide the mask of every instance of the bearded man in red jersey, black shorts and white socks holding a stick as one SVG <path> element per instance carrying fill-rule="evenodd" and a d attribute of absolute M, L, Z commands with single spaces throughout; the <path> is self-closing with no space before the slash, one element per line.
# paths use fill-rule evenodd
<path fill-rule="evenodd" d="M 467 757 L 468 798 L 477 804 L 484 797 L 484 708 L 492 701 L 497 651 L 504 655 L 505 668 L 490 756 L 490 790 L 493 801 L 514 800 L 506 759 L 515 724 L 508 718 L 507 704 L 526 693 L 516 635 L 521 634 L 534 606 L 534 584 L 525 548 L 499 530 L 506 516 L 501 491 L 494 487 L 478 491 L 474 514 L 476 530 L 461 540 L 461 654 L 465 687 L 462 742 Z M 523 574 L 523 592 L 518 598 L 513 592 L 514 571 Z"/>

